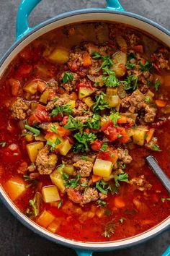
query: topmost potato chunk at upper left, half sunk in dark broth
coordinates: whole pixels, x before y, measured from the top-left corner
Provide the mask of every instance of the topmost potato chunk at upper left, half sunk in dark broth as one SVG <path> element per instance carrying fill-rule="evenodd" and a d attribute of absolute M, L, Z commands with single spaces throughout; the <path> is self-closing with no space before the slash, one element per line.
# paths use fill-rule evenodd
<path fill-rule="evenodd" d="M 58 47 L 48 56 L 50 61 L 57 62 L 59 64 L 66 63 L 68 61 L 69 51 L 67 48 Z"/>

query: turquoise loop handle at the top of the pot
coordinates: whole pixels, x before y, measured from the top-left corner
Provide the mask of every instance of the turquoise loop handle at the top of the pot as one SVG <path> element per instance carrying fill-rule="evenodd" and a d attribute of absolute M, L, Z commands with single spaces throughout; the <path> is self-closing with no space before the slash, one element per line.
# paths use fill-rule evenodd
<path fill-rule="evenodd" d="M 19 9 L 17 12 L 17 26 L 16 26 L 16 40 L 19 40 L 30 32 L 33 27 L 28 25 L 28 17 L 32 12 L 32 9 L 40 3 L 41 0 L 22 0 L 19 4 Z M 120 2 L 118 0 L 106 0 L 107 7 L 105 9 L 114 9 L 115 11 L 124 11 Z"/>

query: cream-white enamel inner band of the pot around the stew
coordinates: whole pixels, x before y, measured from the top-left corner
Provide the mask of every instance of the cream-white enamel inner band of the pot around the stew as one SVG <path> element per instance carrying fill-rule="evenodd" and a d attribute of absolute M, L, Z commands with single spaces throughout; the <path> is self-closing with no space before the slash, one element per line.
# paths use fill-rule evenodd
<path fill-rule="evenodd" d="M 48 33 L 50 30 L 55 29 L 56 27 L 61 27 L 63 25 L 71 24 L 74 22 L 84 22 L 84 21 L 95 21 L 95 20 L 105 20 L 105 21 L 114 21 L 114 22 L 122 22 L 128 25 L 132 25 L 133 27 L 137 27 L 140 30 L 146 31 L 147 33 L 150 33 L 151 35 L 155 36 L 162 42 L 164 42 L 167 46 L 170 47 L 170 38 L 169 35 L 166 35 L 166 33 L 159 30 L 157 27 L 154 27 L 153 25 L 144 22 L 142 20 L 138 20 L 135 17 L 126 16 L 125 14 L 115 14 L 115 13 L 87 13 L 87 14 L 76 14 L 71 17 L 66 17 L 61 20 L 57 20 L 55 22 L 50 23 L 49 25 L 45 25 L 45 27 L 40 28 L 39 30 L 35 31 L 35 33 L 32 33 L 30 36 L 22 40 L 19 45 L 14 48 L 14 50 L 9 54 L 9 56 L 5 59 L 4 63 L 0 67 L 0 77 L 4 73 L 4 70 L 9 65 L 9 63 L 14 59 L 14 57 L 19 53 L 19 51 L 24 48 L 24 46 L 27 46 L 32 40 L 35 40 L 35 38 L 38 38 L 40 35 L 44 33 Z M 112 249 L 117 249 L 119 247 L 126 247 L 130 246 L 130 244 L 138 243 L 139 241 L 145 241 L 148 238 L 151 238 L 155 236 L 156 234 L 161 233 L 162 230 L 167 229 L 170 227 L 170 216 L 165 221 L 162 221 L 158 226 L 154 227 L 153 229 L 150 229 L 149 231 L 146 231 L 143 234 L 140 234 L 138 236 L 133 236 L 132 238 L 124 239 L 117 242 L 105 242 L 105 243 L 91 243 L 91 242 L 75 242 L 69 239 L 65 239 L 61 236 L 57 236 L 55 234 L 52 234 L 48 232 L 45 229 L 42 229 L 40 226 L 38 226 L 36 223 L 31 221 L 29 218 L 24 216 L 22 213 L 19 212 L 19 210 L 14 206 L 12 201 L 9 199 L 9 197 L 6 195 L 6 192 L 4 192 L 4 189 L 0 186 L 0 192 L 1 195 L 4 197 L 8 205 L 11 205 L 14 209 L 15 213 L 19 216 L 22 223 L 26 222 L 30 224 L 34 229 L 37 231 L 40 231 L 41 234 L 45 235 L 48 238 L 53 239 L 53 241 L 56 240 L 56 242 L 61 242 L 63 244 L 68 244 L 68 246 L 71 247 L 89 247 L 90 249 L 109 249 L 112 247 Z"/>

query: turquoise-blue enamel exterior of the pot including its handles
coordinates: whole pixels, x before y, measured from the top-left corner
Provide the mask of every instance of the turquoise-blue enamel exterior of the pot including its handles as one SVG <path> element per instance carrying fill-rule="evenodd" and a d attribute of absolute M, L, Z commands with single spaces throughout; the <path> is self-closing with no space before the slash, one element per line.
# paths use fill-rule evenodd
<path fill-rule="evenodd" d="M 34 33 L 35 31 L 39 30 L 41 27 L 44 27 L 45 25 L 55 22 L 56 20 L 61 20 L 63 18 L 70 17 L 73 15 L 78 15 L 78 14 L 86 14 L 86 13 L 92 14 L 92 13 L 104 13 L 104 12 L 105 13 L 113 13 L 113 14 L 120 13 L 120 14 L 126 15 L 128 17 L 133 17 L 137 20 L 142 20 L 143 22 L 146 22 L 146 23 L 152 25 L 153 27 L 157 27 L 159 30 L 163 31 L 164 33 L 166 33 L 167 35 L 170 36 L 169 30 L 166 30 L 164 27 L 161 27 L 161 25 L 158 25 L 156 22 L 148 20 L 145 17 L 142 17 L 138 14 L 133 14 L 131 12 L 125 12 L 125 10 L 122 8 L 122 6 L 118 0 L 106 0 L 107 1 L 106 8 L 81 9 L 81 10 L 76 10 L 73 12 L 67 12 L 65 14 L 60 14 L 57 17 L 53 17 L 52 19 L 47 20 L 46 22 L 42 22 L 40 25 L 37 25 L 35 27 L 29 27 L 29 25 L 28 25 L 29 14 L 30 14 L 30 12 L 32 12 L 32 9 L 34 9 L 35 6 L 40 1 L 41 0 L 22 0 L 21 1 L 21 4 L 19 5 L 18 13 L 17 13 L 16 42 L 12 45 L 11 48 L 9 48 L 9 50 L 6 52 L 6 54 L 4 54 L 4 56 L 1 58 L 0 66 L 4 63 L 5 59 L 14 50 L 14 48 L 16 48 L 19 45 L 19 43 L 21 43 L 22 40 L 24 40 L 24 38 L 27 38 L 27 36 Z M 19 221 L 21 221 L 25 226 L 27 226 L 27 228 L 31 229 L 32 231 L 39 234 L 40 236 L 45 237 L 46 239 L 50 239 L 53 242 L 58 242 L 65 246 L 73 247 L 73 244 L 69 244 L 69 242 L 57 241 L 57 239 L 53 239 L 50 236 L 50 234 L 46 235 L 46 234 L 42 234 L 40 231 L 37 231 L 37 229 L 35 229 L 30 223 L 27 223 L 26 221 L 24 221 L 23 218 L 21 218 L 19 215 L 17 215 L 17 213 L 12 208 L 12 205 L 9 204 L 8 202 L 6 202 L 5 198 L 1 195 L 1 193 L 0 193 L 0 198 L 1 198 L 2 202 L 4 202 L 4 205 L 6 205 L 6 207 L 11 211 L 11 213 Z M 166 230 L 161 230 L 157 234 L 161 234 L 161 232 L 163 232 L 163 231 L 166 231 Z M 152 237 L 153 236 L 150 236 L 150 238 L 152 238 Z M 140 242 L 135 242 L 133 245 L 136 245 L 138 243 L 145 242 L 145 241 L 146 241 L 146 239 L 143 239 L 143 241 L 140 240 Z M 130 246 L 132 246 L 132 244 Z M 120 249 L 125 248 L 125 247 L 128 247 L 128 246 L 122 244 Z M 76 246 L 76 248 L 74 246 L 73 249 L 76 250 L 76 253 L 79 256 L 91 256 L 93 253 L 92 250 L 90 250 L 91 248 L 87 247 L 86 244 L 83 244 L 81 247 Z M 112 248 L 106 248 L 106 250 L 110 250 L 110 249 L 112 249 Z M 100 248 L 97 248 L 96 250 L 99 251 Z M 166 252 L 164 252 L 164 254 L 162 256 L 170 256 L 170 247 L 168 247 L 168 249 L 166 249 Z"/>

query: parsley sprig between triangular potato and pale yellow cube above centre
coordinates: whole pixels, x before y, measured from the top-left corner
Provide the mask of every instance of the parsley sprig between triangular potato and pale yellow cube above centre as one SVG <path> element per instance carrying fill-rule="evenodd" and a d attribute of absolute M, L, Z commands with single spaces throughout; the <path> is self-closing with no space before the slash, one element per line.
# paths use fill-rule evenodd
<path fill-rule="evenodd" d="M 94 113 L 98 114 L 101 110 L 109 108 L 109 103 L 105 100 L 105 98 L 106 94 L 103 92 L 100 95 L 96 95 L 96 102 L 92 106 Z"/>

